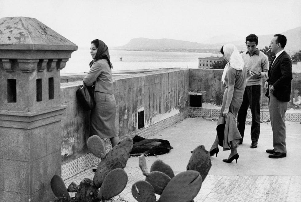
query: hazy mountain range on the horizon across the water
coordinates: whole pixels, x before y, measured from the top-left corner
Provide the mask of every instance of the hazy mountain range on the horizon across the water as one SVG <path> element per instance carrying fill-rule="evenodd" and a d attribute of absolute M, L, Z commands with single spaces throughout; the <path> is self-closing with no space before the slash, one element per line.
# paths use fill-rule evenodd
<path fill-rule="evenodd" d="M 285 49 L 289 52 L 299 51 L 301 49 L 301 27 L 287 30 L 282 32 L 287 37 L 287 45 Z M 261 49 L 270 44 L 274 34 L 259 35 L 258 46 Z M 227 36 L 225 35 L 225 38 Z M 126 45 L 115 47 L 114 49 L 122 50 L 139 50 L 139 51 L 178 51 L 178 52 L 217 52 L 221 46 L 227 43 L 236 45 L 238 50 L 246 50 L 245 38 L 232 42 L 214 43 L 210 44 L 214 40 L 214 37 L 208 41 L 208 44 L 201 44 L 197 42 L 174 40 L 174 39 L 147 39 L 147 38 L 135 38 L 131 39 Z"/>

